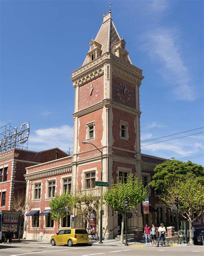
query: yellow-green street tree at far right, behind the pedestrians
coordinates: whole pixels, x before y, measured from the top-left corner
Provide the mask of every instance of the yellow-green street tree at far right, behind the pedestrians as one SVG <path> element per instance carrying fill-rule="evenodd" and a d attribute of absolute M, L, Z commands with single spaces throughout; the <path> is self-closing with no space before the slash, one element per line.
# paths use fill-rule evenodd
<path fill-rule="evenodd" d="M 177 180 L 166 187 L 166 192 L 161 195 L 165 205 L 174 205 L 174 196 L 179 198 L 179 214 L 189 221 L 190 244 L 193 244 L 192 223 L 197 220 L 204 210 L 204 186 L 199 178 L 188 177 Z"/>

